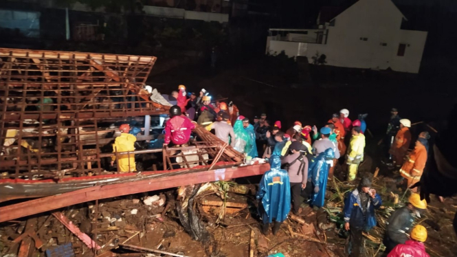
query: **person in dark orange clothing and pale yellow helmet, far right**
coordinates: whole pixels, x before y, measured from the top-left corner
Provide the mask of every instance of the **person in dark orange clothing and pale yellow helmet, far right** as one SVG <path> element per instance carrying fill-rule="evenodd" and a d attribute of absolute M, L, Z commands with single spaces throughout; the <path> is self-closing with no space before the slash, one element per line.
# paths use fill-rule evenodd
<path fill-rule="evenodd" d="M 390 154 L 394 160 L 394 166 L 398 168 L 403 164 L 403 159 L 405 159 L 406 154 L 408 153 L 408 148 L 411 143 L 411 132 L 410 128 L 411 122 L 408 119 L 400 120 L 400 130 L 395 135 L 394 142 L 392 147 L 390 147 Z"/>

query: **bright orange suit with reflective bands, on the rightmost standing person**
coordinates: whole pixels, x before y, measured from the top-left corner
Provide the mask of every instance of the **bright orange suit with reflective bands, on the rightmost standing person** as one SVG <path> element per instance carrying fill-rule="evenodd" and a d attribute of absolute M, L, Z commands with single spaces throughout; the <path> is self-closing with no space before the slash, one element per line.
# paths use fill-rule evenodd
<path fill-rule="evenodd" d="M 400 169 L 400 175 L 405 179 L 408 179 L 408 188 L 421 180 L 426 162 L 427 149 L 425 149 L 425 146 L 422 144 L 419 146 L 416 145 L 410 155 L 406 157 L 405 164 L 403 164 Z M 416 189 L 417 188 L 414 188 L 413 192 L 416 192 Z"/>

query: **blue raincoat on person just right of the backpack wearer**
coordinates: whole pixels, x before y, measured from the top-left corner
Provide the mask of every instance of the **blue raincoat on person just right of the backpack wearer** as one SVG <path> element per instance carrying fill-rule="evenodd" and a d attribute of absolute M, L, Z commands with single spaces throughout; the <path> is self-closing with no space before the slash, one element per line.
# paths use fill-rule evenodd
<path fill-rule="evenodd" d="M 311 204 L 317 207 L 324 206 L 325 201 L 325 190 L 327 187 L 328 178 L 328 164 L 326 161 L 333 160 L 335 158 L 335 152 L 332 148 L 324 150 L 324 152 L 311 159 L 308 174 L 311 175 L 311 182 L 313 186 L 319 187 L 319 191 L 315 193 L 313 191 L 313 197 L 311 197 Z"/>

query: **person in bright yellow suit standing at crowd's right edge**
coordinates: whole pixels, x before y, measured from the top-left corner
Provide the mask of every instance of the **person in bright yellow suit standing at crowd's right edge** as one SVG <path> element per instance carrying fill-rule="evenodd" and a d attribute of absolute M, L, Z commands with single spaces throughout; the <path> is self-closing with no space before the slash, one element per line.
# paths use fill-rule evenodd
<path fill-rule="evenodd" d="M 348 181 L 354 181 L 357 168 L 364 161 L 365 135 L 361 133 L 360 126 L 353 127 L 353 136 L 350 138 L 346 164 L 348 164 Z"/>

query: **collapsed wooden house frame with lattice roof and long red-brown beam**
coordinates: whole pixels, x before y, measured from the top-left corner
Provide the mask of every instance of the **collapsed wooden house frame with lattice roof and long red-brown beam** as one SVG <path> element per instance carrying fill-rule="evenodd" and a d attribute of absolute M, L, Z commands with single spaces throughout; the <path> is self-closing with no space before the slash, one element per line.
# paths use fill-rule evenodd
<path fill-rule="evenodd" d="M 188 146 L 148 147 L 160 137 L 151 134 L 161 125 L 151 123 L 151 116 L 158 118 L 170 108 L 151 100 L 144 89 L 155 60 L 0 48 L 0 201 L 44 197 L 1 207 L 1 221 L 268 170 L 268 164 L 240 166 L 244 155 L 201 126 Z M 119 135 L 115 128 L 131 122 L 143 131 L 137 135 L 143 147 L 113 153 Z M 109 166 L 113 155 L 126 154 L 134 154 L 137 164 L 150 157 L 156 162 L 137 173 Z M 79 193 L 84 197 L 77 197 Z M 60 205 L 40 202 L 49 197 L 59 197 Z"/>

